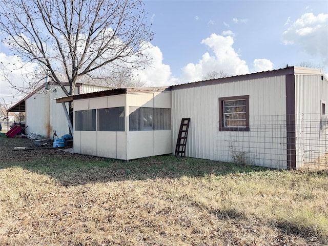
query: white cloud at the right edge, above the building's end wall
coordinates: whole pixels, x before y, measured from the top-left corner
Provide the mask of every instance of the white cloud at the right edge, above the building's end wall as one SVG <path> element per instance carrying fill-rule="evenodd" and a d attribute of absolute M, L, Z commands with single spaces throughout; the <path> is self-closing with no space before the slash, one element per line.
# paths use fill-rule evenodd
<path fill-rule="evenodd" d="M 295 22 L 288 19 L 289 28 L 283 32 L 285 45 L 297 45 L 311 56 L 319 56 L 328 69 L 328 14 L 305 13 Z"/>

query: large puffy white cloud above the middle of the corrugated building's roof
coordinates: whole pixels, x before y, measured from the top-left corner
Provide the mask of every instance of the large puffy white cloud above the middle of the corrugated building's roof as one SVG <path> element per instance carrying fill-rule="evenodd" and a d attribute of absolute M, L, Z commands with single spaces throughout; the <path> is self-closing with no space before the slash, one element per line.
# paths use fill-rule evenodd
<path fill-rule="evenodd" d="M 206 52 L 197 64 L 189 63 L 182 68 L 181 80 L 183 83 L 202 80 L 204 74 L 209 71 L 223 71 L 230 75 L 249 73 L 246 62 L 240 59 L 238 53 L 232 47 L 234 43 L 232 36 L 221 36 L 211 34 L 203 39 L 201 44 L 207 45 L 214 55 Z"/>

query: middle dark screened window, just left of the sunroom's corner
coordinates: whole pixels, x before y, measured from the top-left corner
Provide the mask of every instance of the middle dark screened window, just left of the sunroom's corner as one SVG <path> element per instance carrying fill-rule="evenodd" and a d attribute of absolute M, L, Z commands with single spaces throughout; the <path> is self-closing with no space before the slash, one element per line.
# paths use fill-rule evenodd
<path fill-rule="evenodd" d="M 98 131 L 124 132 L 124 107 L 98 109 Z"/>

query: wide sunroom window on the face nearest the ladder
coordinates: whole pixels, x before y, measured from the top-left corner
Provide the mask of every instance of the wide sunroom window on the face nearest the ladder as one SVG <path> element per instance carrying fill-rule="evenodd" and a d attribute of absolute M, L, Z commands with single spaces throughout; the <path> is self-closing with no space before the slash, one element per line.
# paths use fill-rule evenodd
<path fill-rule="evenodd" d="M 129 130 L 171 130 L 171 109 L 130 107 Z"/>

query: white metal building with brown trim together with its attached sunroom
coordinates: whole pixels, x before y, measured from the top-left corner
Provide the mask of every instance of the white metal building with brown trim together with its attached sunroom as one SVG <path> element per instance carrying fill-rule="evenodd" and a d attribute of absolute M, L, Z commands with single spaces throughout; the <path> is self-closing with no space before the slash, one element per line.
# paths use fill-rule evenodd
<path fill-rule="evenodd" d="M 328 81 L 283 69 L 175 85 L 114 89 L 74 101 L 74 152 L 117 159 L 174 153 L 191 118 L 185 156 L 298 169 L 326 155 Z"/>

